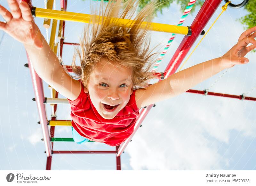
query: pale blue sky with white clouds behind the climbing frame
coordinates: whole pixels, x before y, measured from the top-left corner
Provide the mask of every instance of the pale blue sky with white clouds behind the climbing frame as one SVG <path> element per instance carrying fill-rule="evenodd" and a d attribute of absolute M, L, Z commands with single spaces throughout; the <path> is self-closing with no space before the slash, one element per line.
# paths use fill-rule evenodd
<path fill-rule="evenodd" d="M 71 1 L 70 1 L 71 2 Z M 90 13 L 90 1 L 68 2 L 68 11 Z M 91 1 L 95 3 L 95 1 Z M 7 7 L 7 2 L 0 1 Z M 222 3 L 221 5 L 223 5 Z M 44 7 L 43 1 L 33 1 L 36 7 Z M 56 9 L 60 9 L 56 2 Z M 196 9 L 195 12 L 198 12 Z M 213 15 L 205 30 L 221 12 Z M 154 22 L 176 25 L 181 16 L 180 8 L 172 4 L 154 19 Z M 217 58 L 226 53 L 244 31 L 236 21 L 245 15 L 243 9 L 228 8 L 212 30 L 204 38 L 183 69 Z M 184 26 L 190 25 L 196 13 L 189 15 Z M 2 19 L 3 20 L 3 19 Z M 46 37 L 43 19 L 35 18 L 36 24 Z M 65 41 L 77 42 L 83 24 L 66 22 Z M 0 37 L 3 31 L 0 31 Z M 162 43 L 162 51 L 170 34 L 151 32 L 151 45 Z M 158 71 L 162 72 L 178 47 L 183 36 L 177 35 L 164 56 Z M 200 38 L 199 38 L 200 39 Z M 197 40 L 197 42 L 199 41 Z M 196 42 L 196 43 L 197 43 Z M 65 46 L 63 60 L 70 64 L 73 47 Z M 256 86 L 254 69 L 256 53 L 247 54 L 250 62 L 236 65 L 209 91 L 241 95 Z M 41 126 L 34 96 L 30 72 L 22 43 L 5 35 L 0 46 L 0 169 L 1 170 L 44 170 L 46 155 L 41 141 Z M 199 83 L 192 89 L 204 90 L 218 79 L 224 71 Z M 50 89 L 44 83 L 45 97 Z M 255 91 L 247 95 L 255 97 Z M 64 98 L 60 96 L 61 98 Z M 47 118 L 51 107 L 46 105 Z M 183 93 L 170 100 L 156 103 L 142 123 L 132 142 L 121 156 L 123 170 L 255 170 L 256 127 L 255 102 L 232 98 L 202 96 Z M 58 105 L 57 119 L 70 120 L 69 105 Z M 71 128 L 56 127 L 56 137 L 72 137 Z M 54 150 L 114 150 L 101 143 L 54 143 Z M 54 154 L 52 170 L 115 170 L 113 154 Z"/>

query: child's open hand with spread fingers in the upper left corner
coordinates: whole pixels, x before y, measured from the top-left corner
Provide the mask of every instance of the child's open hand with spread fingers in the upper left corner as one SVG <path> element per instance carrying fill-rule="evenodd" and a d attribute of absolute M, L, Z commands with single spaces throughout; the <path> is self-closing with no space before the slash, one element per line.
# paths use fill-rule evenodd
<path fill-rule="evenodd" d="M 23 44 L 42 48 L 42 34 L 34 22 L 28 4 L 26 2 L 18 4 L 16 0 L 7 1 L 11 12 L 0 5 L 0 14 L 6 21 L 0 21 L 0 29 Z"/>

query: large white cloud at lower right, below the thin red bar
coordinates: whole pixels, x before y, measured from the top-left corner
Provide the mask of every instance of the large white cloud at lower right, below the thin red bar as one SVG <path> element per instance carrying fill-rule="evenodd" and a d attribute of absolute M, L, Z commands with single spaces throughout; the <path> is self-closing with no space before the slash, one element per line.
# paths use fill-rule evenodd
<path fill-rule="evenodd" d="M 156 104 L 125 150 L 131 156 L 131 167 L 221 169 L 223 164 L 228 165 L 229 158 L 222 157 L 219 148 L 222 143 L 232 143 L 231 130 L 247 137 L 256 136 L 253 122 L 241 112 L 243 103 L 230 98 L 182 95 Z"/>

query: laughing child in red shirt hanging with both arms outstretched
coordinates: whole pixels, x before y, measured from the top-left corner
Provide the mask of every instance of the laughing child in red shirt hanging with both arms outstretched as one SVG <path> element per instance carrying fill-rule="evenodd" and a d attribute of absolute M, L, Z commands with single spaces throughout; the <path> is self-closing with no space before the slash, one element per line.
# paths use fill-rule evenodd
<path fill-rule="evenodd" d="M 148 51 L 148 29 L 141 29 L 141 23 L 152 21 L 157 4 L 148 4 L 135 16 L 137 5 L 134 2 L 128 0 L 121 6 L 122 0 L 116 0 L 108 2 L 104 9 L 101 1 L 100 16 L 106 19 L 92 17 L 84 29 L 81 49 L 76 48 L 72 61 L 72 70 L 77 76 L 69 75 L 67 69 L 63 71 L 59 59 L 36 26 L 27 3 L 19 5 L 16 0 L 8 0 L 11 12 L 0 5 L 0 14 L 6 20 L 6 23 L 0 22 L 0 28 L 24 44 L 37 74 L 67 97 L 73 132 L 87 141 L 120 145 L 132 134 L 140 108 L 186 92 L 225 68 L 248 63 L 244 56 L 256 47 L 256 27 L 253 27 L 220 58 L 147 86 L 148 80 L 154 78 L 150 69 L 155 61 L 151 57 L 157 53 L 151 54 L 154 49 Z M 134 19 L 134 22 L 128 28 L 117 27 L 117 19 L 107 19 L 113 17 Z M 249 43 L 252 45 L 247 46 Z M 80 69 L 75 64 L 77 55 Z"/>

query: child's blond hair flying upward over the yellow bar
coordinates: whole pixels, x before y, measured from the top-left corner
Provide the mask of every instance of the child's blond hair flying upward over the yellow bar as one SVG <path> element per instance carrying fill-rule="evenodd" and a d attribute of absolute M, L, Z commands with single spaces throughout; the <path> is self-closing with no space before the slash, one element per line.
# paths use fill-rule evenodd
<path fill-rule="evenodd" d="M 91 16 L 90 23 L 84 27 L 84 37 L 82 39 L 79 37 L 80 50 L 78 47 L 75 48 L 72 60 L 72 71 L 78 76 L 69 75 L 80 78 L 85 87 L 88 87 L 95 64 L 102 58 L 117 67 L 132 68 L 133 88 L 146 87 L 150 79 L 156 78 L 150 70 L 156 62 L 152 56 L 159 52 L 151 54 L 156 47 L 149 51 L 150 37 L 148 37 L 148 43 L 147 34 L 150 26 L 148 24 L 147 27 L 143 27 L 142 22 L 152 21 L 157 4 L 153 2 L 147 4 L 136 15 L 138 4 L 135 4 L 135 0 L 127 0 L 123 5 L 121 3 L 122 0 L 109 0 L 104 8 L 104 2 L 101 0 L 100 15 Z M 96 11 L 91 9 L 91 12 L 94 13 L 92 15 L 96 15 L 97 7 Z M 100 19 L 100 16 L 104 19 Z M 134 19 L 132 19 L 133 16 L 135 16 Z M 133 21 L 129 27 L 116 26 L 120 18 Z M 90 26 L 92 26 L 91 31 L 89 31 Z M 81 68 L 75 64 L 77 56 L 80 58 Z M 64 69 L 67 71 L 65 66 Z"/>

